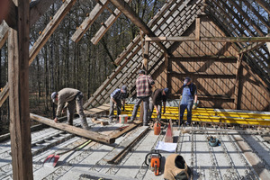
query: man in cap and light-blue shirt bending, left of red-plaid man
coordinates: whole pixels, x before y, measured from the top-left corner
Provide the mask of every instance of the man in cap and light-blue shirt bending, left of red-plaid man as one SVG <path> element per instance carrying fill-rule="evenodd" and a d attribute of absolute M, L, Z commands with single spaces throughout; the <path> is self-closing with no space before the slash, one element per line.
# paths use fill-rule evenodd
<path fill-rule="evenodd" d="M 113 111 L 114 111 L 114 104 L 116 105 L 117 110 L 117 117 L 121 114 L 121 105 L 125 104 L 125 99 L 127 98 L 127 86 L 122 85 L 121 89 L 115 89 L 111 94 L 110 99 L 110 113 L 109 118 L 112 121 L 113 120 Z"/>

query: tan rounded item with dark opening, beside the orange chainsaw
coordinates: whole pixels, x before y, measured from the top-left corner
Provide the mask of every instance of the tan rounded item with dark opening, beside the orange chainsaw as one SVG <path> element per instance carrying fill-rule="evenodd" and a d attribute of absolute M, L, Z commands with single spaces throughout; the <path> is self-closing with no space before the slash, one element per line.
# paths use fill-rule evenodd
<path fill-rule="evenodd" d="M 186 165 L 184 158 L 178 154 L 166 157 L 164 179 L 166 180 L 188 180 L 191 169 Z"/>

